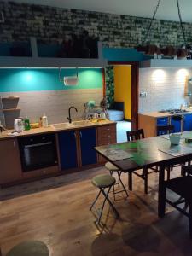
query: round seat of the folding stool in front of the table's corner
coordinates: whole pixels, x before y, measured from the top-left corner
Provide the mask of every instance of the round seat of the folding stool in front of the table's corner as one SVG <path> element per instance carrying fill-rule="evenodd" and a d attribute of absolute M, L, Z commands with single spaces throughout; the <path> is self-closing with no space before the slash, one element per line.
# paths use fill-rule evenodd
<path fill-rule="evenodd" d="M 108 174 L 97 175 L 92 178 L 92 184 L 98 188 L 108 188 L 114 183 L 116 183 L 115 178 Z"/>

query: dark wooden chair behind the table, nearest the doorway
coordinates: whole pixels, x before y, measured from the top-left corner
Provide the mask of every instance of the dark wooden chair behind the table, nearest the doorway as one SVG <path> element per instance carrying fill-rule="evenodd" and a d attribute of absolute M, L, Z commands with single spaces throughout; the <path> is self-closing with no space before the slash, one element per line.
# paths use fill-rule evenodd
<path fill-rule="evenodd" d="M 144 131 L 143 131 L 143 129 L 138 129 L 138 130 L 135 130 L 135 131 L 127 131 L 126 136 L 127 136 L 128 142 L 143 139 L 144 138 Z M 152 172 L 154 172 L 154 171 L 152 171 Z M 152 172 L 148 172 L 148 168 L 143 168 L 141 174 L 138 173 L 137 171 L 133 172 L 135 175 L 137 175 L 137 177 L 141 177 L 143 179 L 145 194 L 148 194 L 148 174 L 150 174 Z M 129 173 L 129 189 L 132 190 L 131 172 Z"/>

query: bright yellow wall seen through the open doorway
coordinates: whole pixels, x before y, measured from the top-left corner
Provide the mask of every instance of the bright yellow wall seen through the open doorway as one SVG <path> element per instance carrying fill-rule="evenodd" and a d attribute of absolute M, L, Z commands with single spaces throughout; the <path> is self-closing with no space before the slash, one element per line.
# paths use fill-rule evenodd
<path fill-rule="evenodd" d="M 124 102 L 125 119 L 131 119 L 131 66 L 114 66 L 114 101 Z"/>

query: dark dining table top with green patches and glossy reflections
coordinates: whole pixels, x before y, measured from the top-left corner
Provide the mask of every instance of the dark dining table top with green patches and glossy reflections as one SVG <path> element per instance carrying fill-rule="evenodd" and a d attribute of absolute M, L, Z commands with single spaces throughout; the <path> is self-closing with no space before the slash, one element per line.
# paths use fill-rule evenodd
<path fill-rule="evenodd" d="M 192 136 L 192 131 L 183 132 L 183 138 Z M 116 143 L 96 147 L 96 151 L 123 172 L 131 172 L 143 167 L 172 165 L 184 157 L 192 158 L 192 143 L 171 146 L 168 136 L 148 137 L 134 142 Z"/>

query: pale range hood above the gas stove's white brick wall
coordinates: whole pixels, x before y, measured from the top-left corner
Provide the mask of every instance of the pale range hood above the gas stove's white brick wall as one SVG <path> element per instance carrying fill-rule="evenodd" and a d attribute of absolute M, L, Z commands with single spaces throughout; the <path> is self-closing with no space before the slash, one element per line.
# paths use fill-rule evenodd
<path fill-rule="evenodd" d="M 140 62 L 140 68 L 144 67 L 192 67 L 192 60 L 175 60 L 175 59 L 150 59 Z"/>

